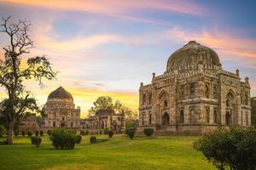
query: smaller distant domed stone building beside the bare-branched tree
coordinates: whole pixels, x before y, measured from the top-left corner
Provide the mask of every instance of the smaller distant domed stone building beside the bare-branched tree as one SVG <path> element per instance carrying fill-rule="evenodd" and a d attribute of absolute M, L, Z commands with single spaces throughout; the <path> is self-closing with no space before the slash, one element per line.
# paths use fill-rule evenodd
<path fill-rule="evenodd" d="M 60 87 L 49 94 L 44 111 L 44 128 L 80 128 L 80 107 L 75 108 L 73 96 Z"/>

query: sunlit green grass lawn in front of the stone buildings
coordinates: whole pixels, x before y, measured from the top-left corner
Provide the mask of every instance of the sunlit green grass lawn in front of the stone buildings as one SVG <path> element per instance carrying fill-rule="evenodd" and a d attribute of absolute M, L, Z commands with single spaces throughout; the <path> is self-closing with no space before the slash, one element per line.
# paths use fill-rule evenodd
<path fill-rule="evenodd" d="M 108 139 L 96 135 L 97 139 Z M 136 137 L 114 135 L 113 139 L 90 144 L 84 136 L 74 150 L 55 150 L 48 136 L 40 148 L 27 137 L 15 144 L 0 145 L 0 169 L 215 169 L 192 147 L 198 137 Z"/>

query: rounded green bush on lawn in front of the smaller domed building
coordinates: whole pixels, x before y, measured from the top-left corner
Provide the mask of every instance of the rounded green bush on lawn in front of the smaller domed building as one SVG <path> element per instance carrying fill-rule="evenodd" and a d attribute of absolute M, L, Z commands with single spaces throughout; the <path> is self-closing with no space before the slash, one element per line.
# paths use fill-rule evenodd
<path fill-rule="evenodd" d="M 55 128 L 49 139 L 57 150 L 73 150 L 77 142 L 76 135 L 63 128 Z"/>

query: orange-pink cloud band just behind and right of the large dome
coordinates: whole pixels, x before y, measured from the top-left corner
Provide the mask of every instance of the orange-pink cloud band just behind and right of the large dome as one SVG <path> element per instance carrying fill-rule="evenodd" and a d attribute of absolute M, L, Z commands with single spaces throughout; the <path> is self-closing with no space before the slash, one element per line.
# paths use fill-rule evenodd
<path fill-rule="evenodd" d="M 173 28 L 168 34 L 177 38 L 179 41 L 189 42 L 195 40 L 203 42 L 209 47 L 216 48 L 224 54 L 236 54 L 240 57 L 256 58 L 256 40 L 244 37 L 236 37 L 236 34 L 230 32 L 189 32 Z"/>

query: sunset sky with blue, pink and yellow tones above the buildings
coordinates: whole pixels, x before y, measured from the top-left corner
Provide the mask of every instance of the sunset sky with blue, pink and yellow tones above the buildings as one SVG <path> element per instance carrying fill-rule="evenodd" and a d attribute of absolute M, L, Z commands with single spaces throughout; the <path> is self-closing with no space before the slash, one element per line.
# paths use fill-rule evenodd
<path fill-rule="evenodd" d="M 44 88 L 26 82 L 38 104 L 62 86 L 86 116 L 102 95 L 137 111 L 140 82 L 163 74 L 169 56 L 191 40 L 214 49 L 224 70 L 249 77 L 255 96 L 255 7 L 236 0 L 0 0 L 0 16 L 31 22 L 35 48 L 25 59 L 46 54 L 59 71 Z M 6 42 L 0 34 L 0 57 Z"/>

